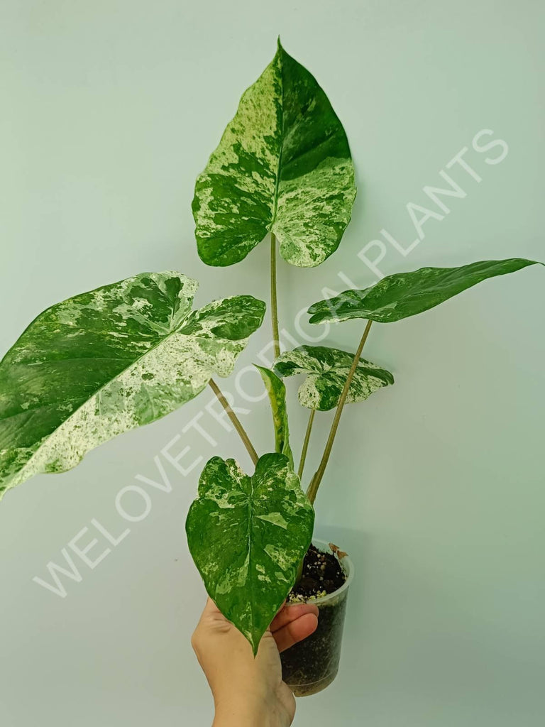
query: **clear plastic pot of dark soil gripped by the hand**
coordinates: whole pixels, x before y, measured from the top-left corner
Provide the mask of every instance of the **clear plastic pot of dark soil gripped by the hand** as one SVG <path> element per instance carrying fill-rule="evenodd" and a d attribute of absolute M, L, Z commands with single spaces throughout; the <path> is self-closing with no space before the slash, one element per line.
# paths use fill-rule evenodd
<path fill-rule="evenodd" d="M 323 540 L 313 538 L 312 544 L 321 553 L 333 553 Z M 331 684 L 339 671 L 348 588 L 354 577 L 354 566 L 347 555 L 339 563 L 347 577 L 343 585 L 334 593 L 310 601 L 320 610 L 318 628 L 304 641 L 280 654 L 282 679 L 295 696 L 317 694 Z"/>

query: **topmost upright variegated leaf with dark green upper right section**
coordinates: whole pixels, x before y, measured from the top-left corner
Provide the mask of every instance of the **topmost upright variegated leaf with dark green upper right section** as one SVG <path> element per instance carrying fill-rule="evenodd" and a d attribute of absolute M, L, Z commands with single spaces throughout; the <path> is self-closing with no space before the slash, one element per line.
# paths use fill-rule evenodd
<path fill-rule="evenodd" d="M 198 253 L 233 265 L 273 232 L 291 265 L 320 265 L 339 246 L 355 191 L 339 118 L 278 41 L 195 184 Z"/>

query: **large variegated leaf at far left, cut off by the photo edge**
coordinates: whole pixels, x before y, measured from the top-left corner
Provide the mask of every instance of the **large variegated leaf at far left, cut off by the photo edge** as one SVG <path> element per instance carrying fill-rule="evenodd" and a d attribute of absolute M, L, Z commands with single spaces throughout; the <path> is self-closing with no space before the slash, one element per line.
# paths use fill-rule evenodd
<path fill-rule="evenodd" d="M 38 473 L 154 422 L 228 376 L 265 303 L 192 310 L 198 283 L 142 273 L 53 305 L 0 362 L 0 497 Z"/>

